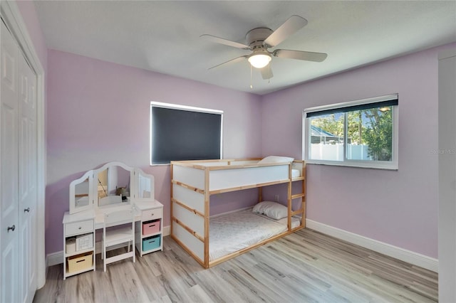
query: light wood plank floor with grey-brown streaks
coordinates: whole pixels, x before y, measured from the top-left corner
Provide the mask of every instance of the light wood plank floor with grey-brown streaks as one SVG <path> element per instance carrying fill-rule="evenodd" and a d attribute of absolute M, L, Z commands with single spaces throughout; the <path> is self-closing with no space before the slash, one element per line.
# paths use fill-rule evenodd
<path fill-rule="evenodd" d="M 437 302 L 437 274 L 308 229 L 204 270 L 165 237 L 107 272 L 49 267 L 33 302 Z"/>

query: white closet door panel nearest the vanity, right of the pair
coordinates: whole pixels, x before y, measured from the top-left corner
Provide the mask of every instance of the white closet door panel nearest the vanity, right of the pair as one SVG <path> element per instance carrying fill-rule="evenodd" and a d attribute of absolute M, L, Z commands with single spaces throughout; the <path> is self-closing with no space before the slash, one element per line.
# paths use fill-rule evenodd
<path fill-rule="evenodd" d="M 19 58 L 19 295 L 32 302 L 36 289 L 36 76 Z"/>

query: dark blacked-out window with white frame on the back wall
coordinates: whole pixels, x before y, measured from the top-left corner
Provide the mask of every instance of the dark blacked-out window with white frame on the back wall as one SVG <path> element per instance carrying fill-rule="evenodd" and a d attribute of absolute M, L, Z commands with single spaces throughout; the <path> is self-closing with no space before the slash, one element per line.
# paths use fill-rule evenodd
<path fill-rule="evenodd" d="M 150 102 L 150 164 L 222 159 L 221 110 Z"/>

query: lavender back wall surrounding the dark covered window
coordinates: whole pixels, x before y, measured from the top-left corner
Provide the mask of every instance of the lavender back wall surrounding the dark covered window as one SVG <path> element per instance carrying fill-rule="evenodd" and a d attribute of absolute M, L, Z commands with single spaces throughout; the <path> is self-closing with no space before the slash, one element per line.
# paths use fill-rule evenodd
<path fill-rule="evenodd" d="M 150 101 L 223 110 L 224 157 L 261 154 L 257 95 L 49 50 L 46 253 L 63 249 L 70 182 L 108 161 L 155 176 L 155 198 L 170 224 L 170 167 L 149 166 Z M 239 206 L 236 194 L 215 200 L 212 211 Z"/>

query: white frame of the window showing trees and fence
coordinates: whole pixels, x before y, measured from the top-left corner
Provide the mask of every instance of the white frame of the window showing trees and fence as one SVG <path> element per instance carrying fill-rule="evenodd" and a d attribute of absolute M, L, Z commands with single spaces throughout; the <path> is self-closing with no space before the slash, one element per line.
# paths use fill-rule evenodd
<path fill-rule="evenodd" d="M 371 97 L 362 100 L 354 100 L 350 102 L 341 102 L 331 105 L 323 105 L 318 107 L 309 107 L 303 111 L 303 123 L 302 123 L 302 157 L 306 161 L 306 164 L 322 164 L 322 165 L 331 165 L 331 166 L 351 166 L 351 167 L 361 167 L 368 169 L 389 169 L 389 170 L 398 170 L 398 125 L 399 125 L 399 105 L 391 105 L 393 107 L 392 111 L 392 121 L 393 121 L 393 134 L 392 134 L 392 156 L 391 161 L 376 161 L 376 160 L 353 160 L 347 159 L 347 112 L 351 112 L 347 107 L 356 107 L 360 105 L 373 105 L 371 108 L 375 108 L 376 103 L 385 102 L 388 100 L 398 100 L 398 94 L 383 95 L 379 97 Z M 339 111 L 338 111 L 339 110 Z M 324 112 L 345 112 L 344 113 L 344 132 L 343 132 L 343 161 L 331 161 L 331 160 L 318 160 L 318 159 L 309 159 L 310 149 L 309 143 L 311 142 L 311 125 L 310 118 L 307 117 L 309 113 L 322 112 L 321 115 L 324 115 Z"/>

